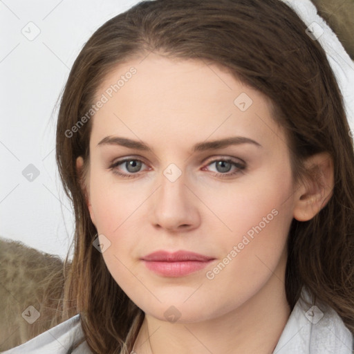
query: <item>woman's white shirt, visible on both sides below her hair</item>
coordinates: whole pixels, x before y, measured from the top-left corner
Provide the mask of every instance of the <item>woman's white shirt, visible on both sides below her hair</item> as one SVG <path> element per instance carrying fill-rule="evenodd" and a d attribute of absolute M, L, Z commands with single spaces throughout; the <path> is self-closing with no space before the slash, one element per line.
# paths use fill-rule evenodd
<path fill-rule="evenodd" d="M 305 298 L 308 298 L 305 292 Z M 80 315 L 50 328 L 3 354 L 66 354 L 68 348 L 84 336 Z M 90 354 L 86 342 L 73 354 Z M 354 339 L 332 308 L 310 308 L 300 301 L 290 313 L 273 354 L 353 354 Z"/>

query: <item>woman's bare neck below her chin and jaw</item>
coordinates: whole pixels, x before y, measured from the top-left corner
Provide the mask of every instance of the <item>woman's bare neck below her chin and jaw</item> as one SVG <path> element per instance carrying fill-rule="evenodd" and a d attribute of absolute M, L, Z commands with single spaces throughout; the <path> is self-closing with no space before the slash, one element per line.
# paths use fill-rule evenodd
<path fill-rule="evenodd" d="M 284 287 L 285 263 L 279 264 L 281 268 L 259 292 L 221 317 L 169 323 L 146 314 L 133 353 L 272 353 L 290 315 Z"/>

